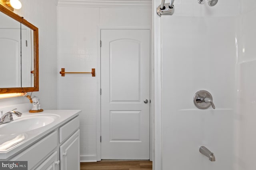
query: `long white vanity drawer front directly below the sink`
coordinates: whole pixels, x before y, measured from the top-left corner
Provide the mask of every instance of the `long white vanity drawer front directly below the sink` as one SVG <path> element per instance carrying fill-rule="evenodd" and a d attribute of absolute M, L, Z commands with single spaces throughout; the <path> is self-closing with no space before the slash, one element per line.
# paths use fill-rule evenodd
<path fill-rule="evenodd" d="M 57 131 L 54 131 L 11 160 L 28 161 L 28 170 L 30 170 L 57 147 L 57 139 Z"/>

